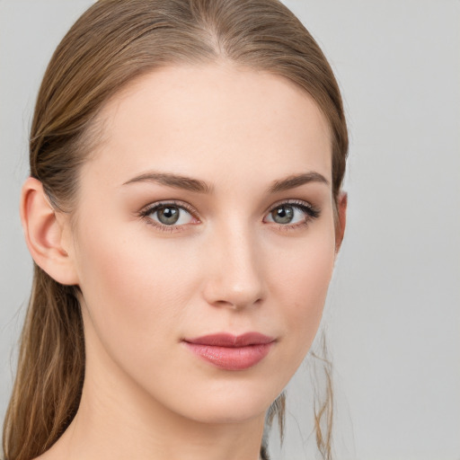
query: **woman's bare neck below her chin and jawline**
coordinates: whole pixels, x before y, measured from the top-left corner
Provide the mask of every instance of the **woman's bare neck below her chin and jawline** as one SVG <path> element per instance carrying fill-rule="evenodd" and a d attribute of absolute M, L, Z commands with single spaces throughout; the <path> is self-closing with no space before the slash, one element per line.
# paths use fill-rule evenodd
<path fill-rule="evenodd" d="M 146 413 L 145 407 L 139 410 L 119 399 L 112 401 L 119 404 L 115 411 L 84 395 L 68 429 L 68 460 L 259 459 L 263 417 L 244 422 L 203 423 L 167 414 L 164 408 Z"/>

